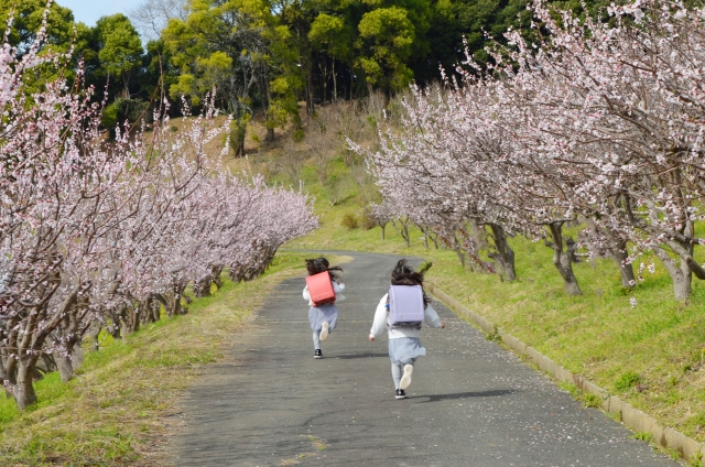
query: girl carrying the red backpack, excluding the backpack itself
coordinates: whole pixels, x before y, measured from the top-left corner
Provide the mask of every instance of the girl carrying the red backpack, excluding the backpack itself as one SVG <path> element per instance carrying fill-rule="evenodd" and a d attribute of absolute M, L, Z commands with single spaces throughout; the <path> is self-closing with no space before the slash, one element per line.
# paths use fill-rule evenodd
<path fill-rule="evenodd" d="M 343 269 L 338 267 L 330 268 L 328 260 L 325 258 L 316 258 L 315 260 L 306 260 L 306 270 L 308 275 L 315 275 L 319 272 L 328 271 L 330 280 L 333 282 L 333 292 L 335 292 L 335 301 L 343 302 L 345 296 L 340 294 L 345 290 L 345 284 L 340 282 L 340 279 L 336 272 L 343 272 Z M 304 287 L 304 300 L 308 301 L 308 322 L 311 323 L 311 329 L 313 330 L 313 358 L 323 358 L 323 350 L 321 350 L 321 341 L 328 337 L 328 334 L 333 333 L 336 324 L 338 323 L 338 307 L 335 303 L 313 306 L 311 301 L 311 294 L 308 293 L 308 285 Z"/>

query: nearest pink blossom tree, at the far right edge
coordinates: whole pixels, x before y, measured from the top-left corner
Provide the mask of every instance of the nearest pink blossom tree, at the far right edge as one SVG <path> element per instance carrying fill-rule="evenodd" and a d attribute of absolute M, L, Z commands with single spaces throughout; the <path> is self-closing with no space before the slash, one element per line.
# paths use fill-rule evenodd
<path fill-rule="evenodd" d="M 587 175 L 571 186 L 572 204 L 598 238 L 653 251 L 675 297 L 687 298 L 693 274 L 705 279 L 694 259 L 704 214 L 703 9 L 638 1 L 611 10 L 614 26 L 570 13 L 557 24 L 540 2 L 534 13 L 551 31 L 541 53 L 512 37 L 522 64 L 516 87 L 534 91 L 534 128 L 549 142 L 541 148 L 563 173 Z M 538 75 L 562 93 L 527 88 Z"/>

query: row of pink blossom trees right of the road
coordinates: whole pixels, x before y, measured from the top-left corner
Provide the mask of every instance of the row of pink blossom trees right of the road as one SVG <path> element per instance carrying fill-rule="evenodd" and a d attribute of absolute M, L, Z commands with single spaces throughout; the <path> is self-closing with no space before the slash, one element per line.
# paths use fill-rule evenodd
<path fill-rule="evenodd" d="M 631 265 L 649 252 L 688 298 L 705 279 L 705 10 L 641 0 L 600 22 L 538 0 L 531 13 L 533 42 L 510 31 L 487 66 L 468 55 L 459 80 L 415 88 L 379 152 L 352 143 L 379 177 L 377 217 L 430 225 L 480 265 L 485 250 L 510 280 L 508 237 L 544 239 L 572 295 L 578 247 L 614 258 L 626 287 L 653 271 Z"/>

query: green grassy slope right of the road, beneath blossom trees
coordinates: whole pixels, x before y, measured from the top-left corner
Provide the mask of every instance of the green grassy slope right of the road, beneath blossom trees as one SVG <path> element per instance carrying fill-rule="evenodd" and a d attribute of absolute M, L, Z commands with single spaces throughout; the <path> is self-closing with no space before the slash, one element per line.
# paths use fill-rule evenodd
<path fill-rule="evenodd" d="M 313 167 L 303 173 L 305 188 L 316 197 L 321 229 L 286 247 L 370 251 L 433 261 L 426 279 L 495 325 L 536 348 L 576 374 L 693 438 L 705 442 L 705 284 L 693 280 L 688 303 L 673 298 L 670 276 L 661 263 L 654 274 L 643 272 L 633 290 L 621 287 L 617 267 L 609 260 L 574 264 L 582 296 L 568 296 L 552 264 L 552 250 L 542 242 L 516 237 L 519 280 L 464 270 L 453 251 L 425 249 L 421 231 L 412 227 L 406 248 L 390 225 L 382 241 L 379 227 L 348 229 L 343 221 L 360 216 L 359 189 L 350 181 L 348 195 L 330 206 Z M 338 167 L 339 177 L 345 167 Z M 698 230 L 702 230 L 699 226 Z M 575 231 L 572 231 L 575 235 Z M 651 262 L 641 257 L 634 263 Z M 696 260 L 705 262 L 702 249 Z M 637 306 L 629 303 L 637 300 Z M 597 401 L 585 401 L 588 405 Z"/>

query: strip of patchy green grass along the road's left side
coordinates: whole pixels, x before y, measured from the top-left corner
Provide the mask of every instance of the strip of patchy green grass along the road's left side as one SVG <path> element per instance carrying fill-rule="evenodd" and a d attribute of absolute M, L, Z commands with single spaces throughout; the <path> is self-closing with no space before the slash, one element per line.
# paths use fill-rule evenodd
<path fill-rule="evenodd" d="M 226 282 L 215 296 L 194 300 L 188 314 L 143 326 L 127 343 L 101 336 L 75 379 L 39 381 L 39 403 L 25 412 L 0 398 L 0 465 L 147 463 L 174 430 L 167 415 L 198 368 L 221 358 L 275 284 L 305 275 L 304 257 L 280 253 L 258 280 Z"/>

